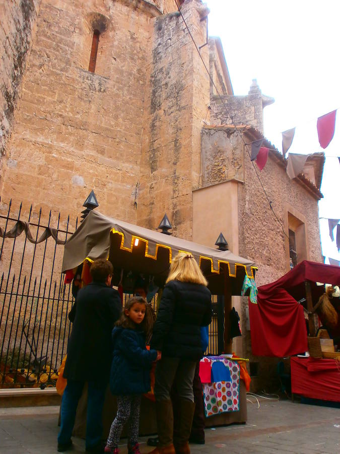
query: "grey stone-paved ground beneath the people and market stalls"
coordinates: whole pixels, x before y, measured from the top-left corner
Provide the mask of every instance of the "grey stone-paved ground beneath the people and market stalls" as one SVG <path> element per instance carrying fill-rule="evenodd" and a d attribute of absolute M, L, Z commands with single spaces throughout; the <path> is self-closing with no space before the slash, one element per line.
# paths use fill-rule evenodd
<path fill-rule="evenodd" d="M 56 451 L 58 407 L 0 409 L 0 453 L 47 454 Z M 127 452 L 122 440 L 121 454 Z M 84 452 L 84 440 L 74 438 L 75 449 Z M 141 439 L 141 451 L 152 448 Z M 271 452 L 318 454 L 340 452 L 340 410 L 290 401 L 248 403 L 248 421 L 206 429 L 206 444 L 191 445 L 200 452 Z"/>

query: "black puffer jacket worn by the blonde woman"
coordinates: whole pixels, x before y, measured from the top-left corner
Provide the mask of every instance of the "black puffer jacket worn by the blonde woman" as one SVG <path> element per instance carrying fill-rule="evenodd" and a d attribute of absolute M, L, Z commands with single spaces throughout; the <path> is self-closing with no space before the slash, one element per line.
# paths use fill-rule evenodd
<path fill-rule="evenodd" d="M 200 326 L 212 319 L 211 293 L 207 287 L 171 280 L 164 287 L 151 348 L 162 356 L 199 360 L 202 357 Z"/>

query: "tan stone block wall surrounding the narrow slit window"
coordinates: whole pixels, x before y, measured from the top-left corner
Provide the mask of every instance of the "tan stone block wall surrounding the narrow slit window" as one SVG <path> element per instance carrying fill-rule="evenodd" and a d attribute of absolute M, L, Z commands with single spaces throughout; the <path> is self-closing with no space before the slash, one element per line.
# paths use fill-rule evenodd
<path fill-rule="evenodd" d="M 2 200 L 65 218 L 94 189 L 104 213 L 135 221 L 151 20 L 126 2 L 41 1 Z"/>

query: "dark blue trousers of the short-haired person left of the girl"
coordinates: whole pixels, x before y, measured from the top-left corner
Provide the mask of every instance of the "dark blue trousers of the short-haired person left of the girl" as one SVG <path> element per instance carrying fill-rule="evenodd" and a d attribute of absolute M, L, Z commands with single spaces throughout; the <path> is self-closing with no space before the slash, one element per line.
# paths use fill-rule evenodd
<path fill-rule="evenodd" d="M 67 380 L 61 401 L 60 432 L 58 435 L 58 443 L 60 444 L 66 444 L 71 439 L 77 406 L 83 392 L 84 384 L 85 381 Z M 88 382 L 86 448 L 96 446 L 102 438 L 102 410 L 106 386 L 106 382 Z"/>

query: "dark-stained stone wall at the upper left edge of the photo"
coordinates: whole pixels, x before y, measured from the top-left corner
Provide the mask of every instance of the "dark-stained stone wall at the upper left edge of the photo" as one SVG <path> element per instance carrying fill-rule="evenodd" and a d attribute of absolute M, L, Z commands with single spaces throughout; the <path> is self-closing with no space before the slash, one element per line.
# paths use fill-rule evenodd
<path fill-rule="evenodd" d="M 0 192 L 39 4 L 40 0 L 13 0 L 0 4 Z M 9 165 L 11 167 L 11 160 Z"/>

